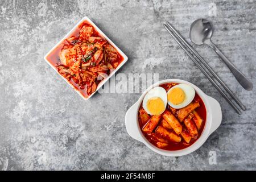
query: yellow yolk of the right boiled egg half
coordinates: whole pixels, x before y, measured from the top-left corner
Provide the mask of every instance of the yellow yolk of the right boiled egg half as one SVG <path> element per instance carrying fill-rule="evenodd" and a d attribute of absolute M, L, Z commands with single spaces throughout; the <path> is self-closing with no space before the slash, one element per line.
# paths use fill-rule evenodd
<path fill-rule="evenodd" d="M 181 88 L 174 88 L 168 93 L 167 99 L 172 104 L 178 105 L 185 100 L 185 93 Z"/>

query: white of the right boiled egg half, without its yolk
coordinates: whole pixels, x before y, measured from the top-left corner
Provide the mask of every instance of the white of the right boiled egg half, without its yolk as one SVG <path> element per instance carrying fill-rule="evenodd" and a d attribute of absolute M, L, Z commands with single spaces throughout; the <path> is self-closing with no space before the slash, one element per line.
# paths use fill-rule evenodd
<path fill-rule="evenodd" d="M 193 101 L 196 92 L 195 92 L 195 89 L 192 86 L 187 85 L 187 84 L 175 85 L 170 90 L 168 90 L 167 94 L 169 92 L 171 92 L 171 90 L 174 89 L 174 88 L 180 88 L 180 89 L 183 90 L 183 92 L 185 93 L 185 100 L 182 103 L 177 104 L 177 105 L 174 105 L 170 101 L 167 100 L 168 105 L 170 105 L 174 109 L 180 109 L 180 108 L 183 108 L 183 107 L 189 105 Z"/>

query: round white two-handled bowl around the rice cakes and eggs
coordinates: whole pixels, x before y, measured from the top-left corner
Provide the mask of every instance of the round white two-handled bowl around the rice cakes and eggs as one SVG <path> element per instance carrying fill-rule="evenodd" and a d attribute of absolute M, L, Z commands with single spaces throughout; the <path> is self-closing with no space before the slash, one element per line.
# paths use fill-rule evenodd
<path fill-rule="evenodd" d="M 175 150 L 175 151 L 163 150 L 161 148 L 154 146 L 152 143 L 150 143 L 142 134 L 142 131 L 139 127 L 139 119 L 138 119 L 139 107 L 141 106 L 143 98 L 146 95 L 146 93 L 150 89 L 154 88 L 155 86 L 167 84 L 170 82 L 191 85 L 196 90 L 196 93 L 200 96 L 201 100 L 203 100 L 206 111 L 207 111 L 207 119 L 205 121 L 205 126 L 201 133 L 201 136 L 191 146 L 187 148 L 183 148 L 181 150 Z M 139 100 L 133 106 L 131 106 L 129 110 L 127 110 L 125 115 L 125 126 L 126 126 L 127 133 L 131 137 L 146 144 L 146 146 L 150 148 L 152 151 L 161 155 L 166 155 L 166 156 L 182 156 L 182 155 L 190 154 L 191 152 L 201 147 L 204 144 L 204 142 L 207 140 L 207 138 L 210 136 L 210 134 L 212 134 L 213 131 L 215 131 L 220 126 L 221 119 L 222 119 L 221 107 L 218 101 L 216 101 L 214 98 L 207 96 L 207 94 L 205 94 L 196 85 L 191 84 L 191 82 L 179 80 L 179 79 L 167 79 L 167 80 L 156 82 L 155 84 L 151 85 L 149 88 L 147 88 L 147 90 L 143 92 L 141 97 L 139 97 Z"/>

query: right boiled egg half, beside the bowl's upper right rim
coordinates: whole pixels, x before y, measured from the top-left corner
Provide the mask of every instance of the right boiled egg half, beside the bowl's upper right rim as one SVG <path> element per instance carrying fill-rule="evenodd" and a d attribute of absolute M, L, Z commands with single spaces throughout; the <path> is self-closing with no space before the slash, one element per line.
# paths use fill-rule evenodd
<path fill-rule="evenodd" d="M 190 85 L 175 85 L 167 92 L 168 105 L 175 109 L 185 107 L 193 101 L 195 94 L 195 89 Z"/>

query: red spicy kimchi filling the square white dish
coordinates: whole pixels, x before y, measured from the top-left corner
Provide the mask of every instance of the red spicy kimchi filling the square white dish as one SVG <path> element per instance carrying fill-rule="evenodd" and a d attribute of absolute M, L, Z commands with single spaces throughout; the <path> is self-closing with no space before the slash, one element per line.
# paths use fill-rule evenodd
<path fill-rule="evenodd" d="M 53 51 L 48 60 L 83 96 L 88 97 L 122 62 L 123 57 L 88 22 Z"/>

